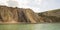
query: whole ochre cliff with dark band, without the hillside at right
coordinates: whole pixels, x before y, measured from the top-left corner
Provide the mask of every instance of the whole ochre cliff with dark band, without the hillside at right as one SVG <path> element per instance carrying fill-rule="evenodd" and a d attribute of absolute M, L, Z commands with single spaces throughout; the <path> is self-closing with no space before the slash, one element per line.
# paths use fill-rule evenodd
<path fill-rule="evenodd" d="M 0 6 L 1 22 L 39 23 L 42 19 L 31 9 Z"/>

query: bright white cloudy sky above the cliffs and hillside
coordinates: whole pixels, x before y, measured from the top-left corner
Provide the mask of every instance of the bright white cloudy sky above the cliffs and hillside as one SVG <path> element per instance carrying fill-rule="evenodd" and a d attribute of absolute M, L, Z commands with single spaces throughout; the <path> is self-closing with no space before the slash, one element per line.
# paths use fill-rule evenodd
<path fill-rule="evenodd" d="M 14 2 L 8 3 L 9 0 L 0 0 L 0 5 L 14 6 Z M 60 9 L 60 0 L 12 0 L 16 1 L 15 6 L 19 8 L 30 8 L 34 12 L 45 12 L 52 9 Z M 16 5 L 17 4 L 17 5 Z"/>

